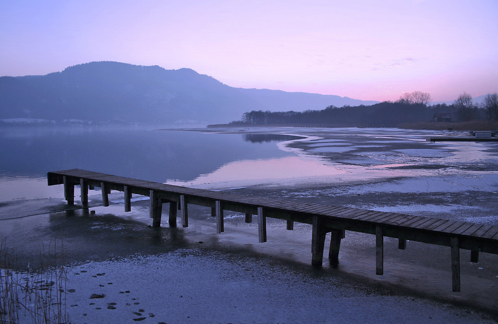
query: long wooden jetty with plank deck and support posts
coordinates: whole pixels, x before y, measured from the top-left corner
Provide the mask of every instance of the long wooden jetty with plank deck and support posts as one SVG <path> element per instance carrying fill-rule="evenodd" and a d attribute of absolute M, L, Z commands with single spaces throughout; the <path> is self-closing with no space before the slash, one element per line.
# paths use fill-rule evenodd
<path fill-rule="evenodd" d="M 294 221 L 312 224 L 312 264 L 321 266 L 325 235 L 331 233 L 329 258 L 337 262 L 341 239 L 345 230 L 375 235 L 376 274 L 383 274 L 383 237 L 397 238 L 398 247 L 406 248 L 406 241 L 418 241 L 450 247 L 452 289 L 460 291 L 460 249 L 471 250 L 471 262 L 479 261 L 479 253 L 498 254 L 498 226 L 477 224 L 432 217 L 411 216 L 357 208 L 304 203 L 276 198 L 237 195 L 227 192 L 172 186 L 110 174 L 72 169 L 48 172 L 48 185 L 64 185 L 68 205 L 74 204 L 74 187 L 80 186 L 81 202 L 88 204 L 89 187 L 102 189 L 104 206 L 109 206 L 111 190 L 124 192 L 124 210 L 131 210 L 131 194 L 150 197 L 150 217 L 153 226 L 160 226 L 162 204 L 169 203 L 169 225 L 176 226 L 177 214 L 183 227 L 188 226 L 188 205 L 211 207 L 216 216 L 217 232 L 224 231 L 223 213 L 244 213 L 246 222 L 257 216 L 259 242 L 266 241 L 266 217 L 287 220 L 292 230 Z"/>

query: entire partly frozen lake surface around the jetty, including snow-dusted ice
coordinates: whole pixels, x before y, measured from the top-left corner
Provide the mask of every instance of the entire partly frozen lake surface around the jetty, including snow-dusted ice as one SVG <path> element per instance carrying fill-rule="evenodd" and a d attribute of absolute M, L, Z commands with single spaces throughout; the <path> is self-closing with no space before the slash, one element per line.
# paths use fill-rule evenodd
<path fill-rule="evenodd" d="M 268 221 L 268 242 L 259 244 L 256 225 L 243 215 L 227 213 L 225 232 L 215 234 L 210 210 L 193 207 L 189 227 L 169 228 L 163 217 L 156 230 L 146 226 L 146 198 L 133 196 L 132 211 L 124 213 L 122 193 L 102 207 L 100 192 L 90 191 L 89 210 L 68 211 L 62 186 L 48 187 L 45 179 L 47 171 L 82 168 L 498 224 L 498 145 L 425 141 L 430 135 L 358 128 L 1 129 L 7 158 L 0 161 L 0 235 L 22 267 L 36 262 L 40 244 L 64 241 L 75 323 L 142 317 L 144 323 L 488 323 L 494 315 L 477 311 L 498 309 L 496 255 L 473 264 L 462 251 L 462 293 L 452 293 L 449 249 L 408 242 L 401 251 L 386 239 L 385 274 L 376 276 L 374 238 L 347 232 L 339 267 L 325 260 L 314 270 L 309 225 L 287 231 Z M 107 297 L 90 300 L 94 293 Z"/>

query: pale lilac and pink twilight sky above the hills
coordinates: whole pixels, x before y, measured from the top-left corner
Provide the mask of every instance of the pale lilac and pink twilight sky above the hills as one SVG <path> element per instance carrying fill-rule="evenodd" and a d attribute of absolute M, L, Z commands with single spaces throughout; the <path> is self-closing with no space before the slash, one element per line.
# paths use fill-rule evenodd
<path fill-rule="evenodd" d="M 1 0 L 0 76 L 93 61 L 361 100 L 498 92 L 497 0 Z"/>

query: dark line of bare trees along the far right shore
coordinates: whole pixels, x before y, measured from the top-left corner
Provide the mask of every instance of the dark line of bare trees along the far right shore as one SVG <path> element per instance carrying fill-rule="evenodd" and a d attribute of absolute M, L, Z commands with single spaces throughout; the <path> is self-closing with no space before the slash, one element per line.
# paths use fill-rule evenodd
<path fill-rule="evenodd" d="M 329 106 L 322 110 L 245 112 L 241 120 L 220 126 L 294 127 L 399 127 L 414 129 L 497 130 L 498 94 L 475 105 L 469 94 L 462 94 L 451 105 L 428 106 L 430 94 L 413 92 L 395 102 L 372 106 Z"/>

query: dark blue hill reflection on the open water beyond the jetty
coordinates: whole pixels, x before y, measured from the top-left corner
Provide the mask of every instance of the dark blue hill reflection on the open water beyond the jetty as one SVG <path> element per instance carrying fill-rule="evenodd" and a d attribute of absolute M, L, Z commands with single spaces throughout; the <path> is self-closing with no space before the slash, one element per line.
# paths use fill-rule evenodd
<path fill-rule="evenodd" d="M 275 140 L 244 134 L 142 128 L 0 129 L 0 176 L 86 169 L 142 180 L 187 181 L 239 160 L 289 156 Z"/>

